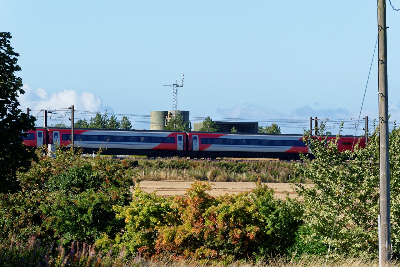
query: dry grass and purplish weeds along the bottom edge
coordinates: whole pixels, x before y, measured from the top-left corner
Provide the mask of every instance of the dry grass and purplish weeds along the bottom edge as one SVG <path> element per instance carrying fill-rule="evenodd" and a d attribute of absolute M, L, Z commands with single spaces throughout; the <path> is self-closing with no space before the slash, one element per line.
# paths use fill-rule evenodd
<path fill-rule="evenodd" d="M 62 242 L 60 242 L 62 243 Z M 330 259 L 325 265 L 324 257 L 307 256 L 300 258 L 284 257 L 267 258 L 259 261 L 240 260 L 231 262 L 209 262 L 209 261 L 148 261 L 137 254 L 136 257 L 126 259 L 124 249 L 118 255 L 112 255 L 111 249 L 108 253 L 96 252 L 94 245 L 73 242 L 71 247 L 64 248 L 55 243 L 42 244 L 39 239 L 31 237 L 28 241 L 9 239 L 0 244 L 0 266 L 80 266 L 80 267 L 372 267 L 378 266 L 378 261 L 367 260 L 357 257 L 346 257 L 343 259 Z M 400 267 L 398 262 L 391 264 L 393 267 Z"/>

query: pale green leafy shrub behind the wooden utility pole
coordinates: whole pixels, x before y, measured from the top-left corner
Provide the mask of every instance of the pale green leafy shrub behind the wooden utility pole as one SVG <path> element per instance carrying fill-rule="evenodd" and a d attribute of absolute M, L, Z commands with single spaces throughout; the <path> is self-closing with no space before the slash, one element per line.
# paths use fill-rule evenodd
<path fill-rule="evenodd" d="M 304 224 L 312 229 L 306 241 L 331 243 L 335 255 L 378 255 L 379 137 L 376 130 L 368 147 L 338 153 L 335 141 L 305 137 L 315 160 L 304 158 L 299 175 L 314 184 L 299 185 L 304 198 Z M 400 253 L 400 131 L 390 134 L 390 206 L 393 254 Z M 350 159 L 350 160 L 349 160 Z M 332 236 L 333 233 L 333 236 Z M 333 237 L 331 239 L 331 237 Z"/>

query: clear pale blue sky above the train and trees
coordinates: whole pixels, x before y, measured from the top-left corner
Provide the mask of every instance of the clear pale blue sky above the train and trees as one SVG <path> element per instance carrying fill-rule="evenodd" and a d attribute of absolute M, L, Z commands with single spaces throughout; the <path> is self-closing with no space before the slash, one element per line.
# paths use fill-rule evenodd
<path fill-rule="evenodd" d="M 400 119 L 400 12 L 387 2 L 391 121 Z M 400 0 L 392 4 L 400 8 Z M 277 122 L 302 133 L 309 117 L 336 134 L 378 117 L 376 1 L 4 1 L 0 28 L 20 54 L 22 110 L 127 114 L 150 127 L 153 110 L 191 121 Z M 62 113 L 62 112 L 61 112 Z M 64 122 L 67 122 L 68 112 Z M 139 116 L 140 115 L 140 116 Z M 56 115 L 54 115 L 55 117 Z M 77 112 L 76 119 L 93 113 Z M 60 118 L 58 118 L 60 119 Z M 62 118 L 61 118 L 62 119 Z M 363 124 L 364 122 L 362 122 Z M 41 122 L 38 121 L 38 125 Z"/>

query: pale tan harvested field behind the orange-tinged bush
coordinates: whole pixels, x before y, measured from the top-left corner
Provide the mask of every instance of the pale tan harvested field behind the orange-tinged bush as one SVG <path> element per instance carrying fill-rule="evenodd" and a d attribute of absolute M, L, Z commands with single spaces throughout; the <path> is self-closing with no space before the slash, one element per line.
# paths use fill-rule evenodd
<path fill-rule="evenodd" d="M 167 181 L 141 181 L 139 187 L 145 192 L 152 193 L 157 191 L 160 196 L 183 196 L 193 181 L 167 180 Z M 251 191 L 256 185 L 253 182 L 210 182 L 212 189 L 208 192 L 212 196 L 223 194 L 238 194 L 240 192 Z M 262 183 L 274 189 L 275 197 L 286 199 L 286 194 L 290 198 L 296 198 L 293 184 L 289 183 Z M 310 184 L 303 184 L 311 186 Z"/>

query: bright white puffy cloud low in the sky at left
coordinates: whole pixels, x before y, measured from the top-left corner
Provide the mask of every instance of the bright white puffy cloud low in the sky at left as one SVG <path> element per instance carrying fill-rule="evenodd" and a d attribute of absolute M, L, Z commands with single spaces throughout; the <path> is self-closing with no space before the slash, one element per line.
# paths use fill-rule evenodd
<path fill-rule="evenodd" d="M 74 105 L 76 110 L 97 112 L 108 108 L 110 112 L 109 107 L 103 106 L 103 101 L 100 97 L 89 92 L 78 94 L 75 90 L 65 89 L 64 91 L 49 94 L 43 88 L 34 90 L 26 84 L 22 88 L 25 94 L 18 97 L 22 110 L 27 107 L 30 109 L 54 110 Z"/>

